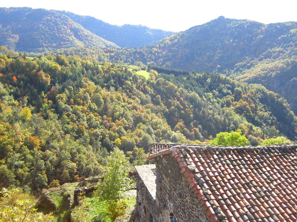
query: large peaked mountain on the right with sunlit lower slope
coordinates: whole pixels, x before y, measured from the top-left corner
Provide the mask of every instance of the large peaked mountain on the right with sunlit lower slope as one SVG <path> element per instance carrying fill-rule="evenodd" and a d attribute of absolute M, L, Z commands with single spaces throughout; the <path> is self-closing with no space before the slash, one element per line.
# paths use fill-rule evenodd
<path fill-rule="evenodd" d="M 297 22 L 265 25 L 221 16 L 149 46 L 110 55 L 112 61 L 215 71 L 261 83 L 284 96 L 297 114 Z"/>

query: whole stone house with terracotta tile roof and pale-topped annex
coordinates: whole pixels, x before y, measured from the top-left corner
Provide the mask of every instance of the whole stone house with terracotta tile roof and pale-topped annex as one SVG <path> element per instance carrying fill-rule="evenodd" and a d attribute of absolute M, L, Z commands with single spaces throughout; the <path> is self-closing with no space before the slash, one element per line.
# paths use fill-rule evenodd
<path fill-rule="evenodd" d="M 155 164 L 135 167 L 140 221 L 297 221 L 296 149 L 151 144 Z"/>

